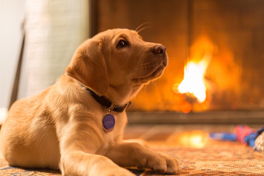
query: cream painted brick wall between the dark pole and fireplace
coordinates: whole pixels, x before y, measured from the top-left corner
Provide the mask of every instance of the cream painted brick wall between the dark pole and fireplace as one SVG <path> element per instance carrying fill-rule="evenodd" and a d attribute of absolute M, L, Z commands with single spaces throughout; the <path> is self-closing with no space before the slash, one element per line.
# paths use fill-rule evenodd
<path fill-rule="evenodd" d="M 87 6 L 85 0 L 26 1 L 26 96 L 64 74 L 74 51 L 87 38 Z"/>

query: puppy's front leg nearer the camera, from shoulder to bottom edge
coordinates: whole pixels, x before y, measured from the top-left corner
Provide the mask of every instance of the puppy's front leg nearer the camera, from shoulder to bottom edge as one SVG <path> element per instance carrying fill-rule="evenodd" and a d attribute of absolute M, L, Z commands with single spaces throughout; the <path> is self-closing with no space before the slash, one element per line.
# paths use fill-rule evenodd
<path fill-rule="evenodd" d="M 60 170 L 62 175 L 77 176 L 135 176 L 109 158 L 95 154 L 103 143 L 97 122 L 85 117 L 72 117 L 67 125 L 58 127 Z"/>

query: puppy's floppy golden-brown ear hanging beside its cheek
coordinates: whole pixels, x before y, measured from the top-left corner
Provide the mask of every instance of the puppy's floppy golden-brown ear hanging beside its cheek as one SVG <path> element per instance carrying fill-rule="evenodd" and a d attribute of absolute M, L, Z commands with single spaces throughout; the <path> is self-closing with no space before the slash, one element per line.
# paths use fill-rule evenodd
<path fill-rule="evenodd" d="M 99 95 L 105 94 L 109 85 L 102 44 L 101 40 L 86 40 L 77 48 L 65 71 L 66 75 L 77 79 Z"/>

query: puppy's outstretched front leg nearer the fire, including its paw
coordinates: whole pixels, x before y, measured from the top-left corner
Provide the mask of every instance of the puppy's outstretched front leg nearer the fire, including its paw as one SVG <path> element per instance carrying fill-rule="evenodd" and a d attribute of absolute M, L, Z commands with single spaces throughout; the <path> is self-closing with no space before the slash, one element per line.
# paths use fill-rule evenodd
<path fill-rule="evenodd" d="M 180 170 L 177 159 L 156 153 L 139 143 L 118 143 L 108 150 L 106 157 L 122 167 L 145 167 L 168 174 L 178 174 Z"/>

